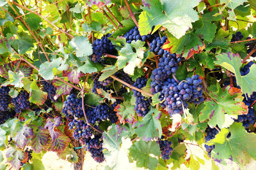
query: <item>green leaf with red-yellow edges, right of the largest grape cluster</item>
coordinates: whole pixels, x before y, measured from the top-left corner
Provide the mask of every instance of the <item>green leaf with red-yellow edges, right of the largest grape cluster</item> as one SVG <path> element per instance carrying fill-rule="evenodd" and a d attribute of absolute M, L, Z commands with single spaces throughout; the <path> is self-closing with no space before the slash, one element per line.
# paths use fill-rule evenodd
<path fill-rule="evenodd" d="M 229 86 L 222 90 L 220 84 L 209 87 L 209 96 L 204 102 L 204 109 L 200 111 L 199 120 L 202 122 L 209 119 L 208 124 L 212 127 L 228 127 L 234 120 L 229 115 L 242 115 L 248 113 L 248 107 L 243 103 L 241 93 L 230 95 Z M 227 114 L 226 114 L 227 113 Z"/>

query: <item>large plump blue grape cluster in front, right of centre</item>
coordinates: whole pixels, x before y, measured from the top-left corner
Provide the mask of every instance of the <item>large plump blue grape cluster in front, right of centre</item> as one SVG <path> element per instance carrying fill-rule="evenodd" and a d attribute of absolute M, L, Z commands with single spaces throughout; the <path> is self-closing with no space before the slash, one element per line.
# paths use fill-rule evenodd
<path fill-rule="evenodd" d="M 188 108 L 188 103 L 200 104 L 204 102 L 202 80 L 198 75 L 195 75 L 178 84 L 173 78 L 168 78 L 164 82 L 159 99 L 164 100 L 161 106 L 167 108 L 170 115 L 181 114 L 183 108 Z"/>

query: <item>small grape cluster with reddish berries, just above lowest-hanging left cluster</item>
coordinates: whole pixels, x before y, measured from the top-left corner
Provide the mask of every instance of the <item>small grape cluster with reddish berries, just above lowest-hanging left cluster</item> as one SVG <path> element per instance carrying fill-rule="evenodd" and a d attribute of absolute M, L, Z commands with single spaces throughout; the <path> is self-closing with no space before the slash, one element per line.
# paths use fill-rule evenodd
<path fill-rule="evenodd" d="M 93 129 L 88 124 L 84 123 L 83 120 L 74 119 L 68 124 L 70 130 L 74 130 L 73 137 L 76 140 L 83 138 L 90 138 L 93 134 Z"/>

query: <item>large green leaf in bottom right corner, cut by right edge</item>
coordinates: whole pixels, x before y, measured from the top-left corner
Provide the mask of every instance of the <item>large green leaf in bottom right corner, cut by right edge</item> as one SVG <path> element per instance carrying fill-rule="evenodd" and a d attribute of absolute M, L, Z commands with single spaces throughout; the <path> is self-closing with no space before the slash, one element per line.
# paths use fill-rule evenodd
<path fill-rule="evenodd" d="M 227 138 L 227 130 L 231 134 L 230 138 Z M 246 161 L 243 157 L 244 154 L 249 154 L 253 159 L 256 159 L 256 146 L 252 145 L 256 141 L 255 134 L 246 132 L 243 125 L 236 122 L 229 129 L 221 129 L 221 131 L 225 131 L 225 141 L 223 143 L 221 139 L 220 143 L 218 141 L 214 143 L 215 148 L 211 152 L 212 157 L 218 160 L 231 159 L 241 164 Z"/>

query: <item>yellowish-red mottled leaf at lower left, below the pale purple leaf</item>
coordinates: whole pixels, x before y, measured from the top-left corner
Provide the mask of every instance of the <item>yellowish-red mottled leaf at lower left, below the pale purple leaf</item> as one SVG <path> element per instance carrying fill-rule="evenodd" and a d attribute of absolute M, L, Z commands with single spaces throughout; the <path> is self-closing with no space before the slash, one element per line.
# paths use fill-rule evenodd
<path fill-rule="evenodd" d="M 60 133 L 58 138 L 52 139 L 51 150 L 53 152 L 63 152 L 70 142 L 70 138 Z"/>

